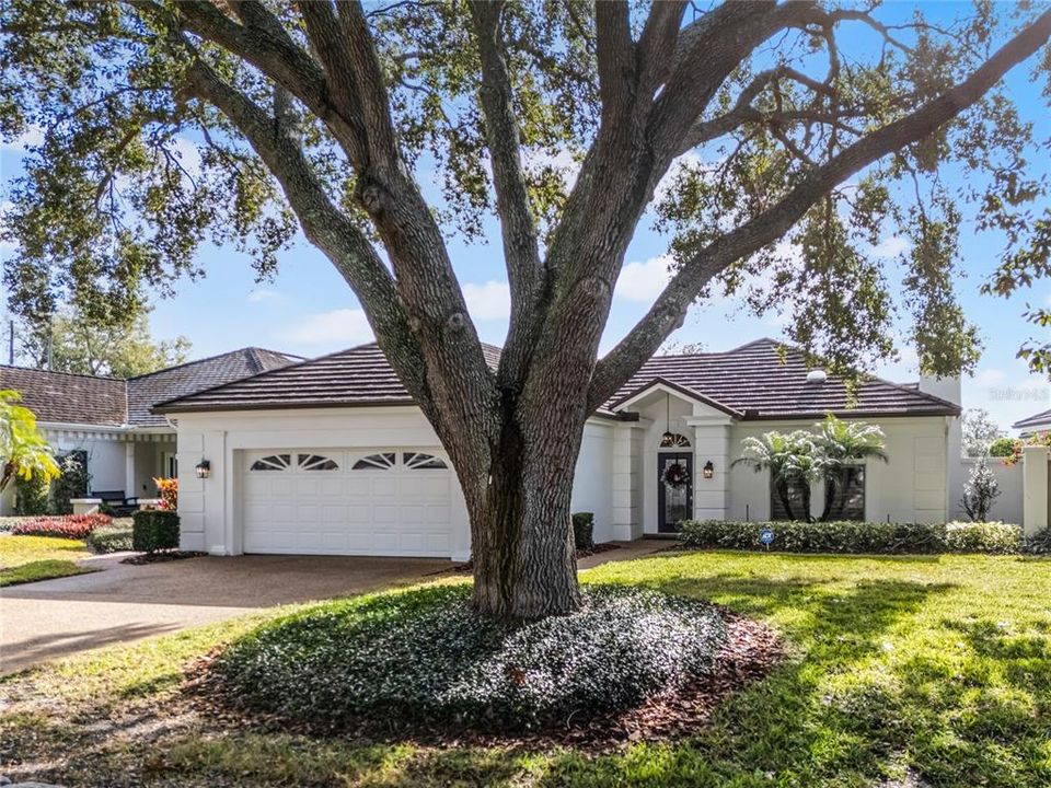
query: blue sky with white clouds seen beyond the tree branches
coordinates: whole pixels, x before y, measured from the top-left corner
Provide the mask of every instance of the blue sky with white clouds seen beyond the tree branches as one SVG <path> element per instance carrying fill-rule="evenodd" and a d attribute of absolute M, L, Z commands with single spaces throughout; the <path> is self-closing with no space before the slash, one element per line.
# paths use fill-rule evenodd
<path fill-rule="evenodd" d="M 906 16 L 914 8 L 900 3 L 889 9 Z M 938 3 L 933 8 L 947 16 L 966 5 Z M 1023 115 L 1037 124 L 1036 137 L 1051 137 L 1051 120 L 1046 100 L 1029 83 L 1030 65 L 1016 69 L 1008 85 Z M 23 140 L 24 142 L 25 140 Z M 186 157 L 193 157 L 186 146 Z M 23 150 L 20 143 L 0 149 L 0 176 L 3 184 L 21 172 Z M 1047 150 L 1039 166 L 1048 171 Z M 950 173 L 949 183 L 966 173 Z M 425 187 L 427 184 L 425 183 Z M 483 339 L 500 344 L 507 326 L 506 274 L 495 221 L 487 224 L 489 244 L 450 242 L 450 254 L 464 286 L 469 306 Z M 1037 331 L 1021 318 L 1026 303 L 1051 304 L 1051 282 L 1037 286 L 1010 300 L 983 297 L 979 287 L 995 268 L 1003 252 L 1003 240 L 995 233 L 974 231 L 973 216 L 965 224 L 965 277 L 959 290 L 971 321 L 981 332 L 985 351 L 977 373 L 963 381 L 965 407 L 989 409 L 1002 426 L 1051 407 L 1051 385 L 1046 378 L 1029 375 L 1023 361 L 1015 358 L 1019 345 Z M 874 251 L 890 259 L 903 247 L 900 239 L 888 236 Z M 665 280 L 662 255 L 667 239 L 652 231 L 644 220 L 627 255 L 625 269 L 614 298 L 604 338 L 612 346 L 648 309 Z M 10 250 L 4 250 L 10 254 Z M 185 335 L 193 341 L 193 357 L 210 356 L 236 347 L 257 345 L 303 356 L 314 356 L 371 339 L 368 325 L 354 294 L 324 256 L 300 240 L 280 255 L 280 268 L 273 281 L 257 283 L 246 256 L 233 248 L 205 246 L 198 253 L 207 277 L 197 282 L 181 281 L 176 296 L 162 300 L 151 315 L 158 338 Z M 782 322 L 776 314 L 757 317 L 738 301 L 715 299 L 691 310 L 685 325 L 671 343 L 701 343 L 706 349 L 723 350 L 761 336 L 781 337 Z M 915 380 L 914 354 L 901 347 L 902 361 L 877 369 L 891 380 Z"/>

